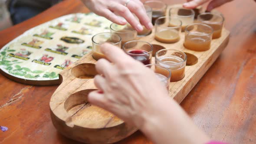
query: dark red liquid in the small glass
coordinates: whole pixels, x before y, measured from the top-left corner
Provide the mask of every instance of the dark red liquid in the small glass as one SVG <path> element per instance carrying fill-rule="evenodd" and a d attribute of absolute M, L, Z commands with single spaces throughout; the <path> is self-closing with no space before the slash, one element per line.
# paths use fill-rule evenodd
<path fill-rule="evenodd" d="M 139 55 L 136 56 L 136 55 L 131 55 L 129 53 L 139 54 Z M 141 54 L 143 54 L 143 55 L 141 55 Z M 151 63 L 151 56 L 150 56 L 150 53 L 148 53 L 147 51 L 144 51 L 141 49 L 131 50 L 131 51 L 128 51 L 128 55 L 130 55 L 134 59 L 142 62 L 144 65 L 149 65 Z"/>

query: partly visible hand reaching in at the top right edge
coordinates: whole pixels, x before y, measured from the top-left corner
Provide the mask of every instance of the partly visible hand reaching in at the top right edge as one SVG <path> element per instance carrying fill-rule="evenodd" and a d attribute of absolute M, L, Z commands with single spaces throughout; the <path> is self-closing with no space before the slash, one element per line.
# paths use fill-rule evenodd
<path fill-rule="evenodd" d="M 203 3 L 207 3 L 210 0 L 187 0 L 187 3 L 183 4 L 183 7 L 185 8 L 190 8 L 190 9 L 194 9 L 197 6 L 202 5 Z M 224 3 L 230 2 L 233 0 L 211 0 L 210 3 L 207 6 L 207 11 L 211 11 L 216 7 L 220 7 L 221 5 L 223 5 Z"/>

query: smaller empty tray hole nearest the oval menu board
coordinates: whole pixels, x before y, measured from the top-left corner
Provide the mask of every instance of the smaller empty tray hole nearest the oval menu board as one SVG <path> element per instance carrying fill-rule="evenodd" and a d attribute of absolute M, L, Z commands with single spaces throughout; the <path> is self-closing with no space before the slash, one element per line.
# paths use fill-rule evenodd
<path fill-rule="evenodd" d="M 93 79 L 97 75 L 95 64 L 83 63 L 72 68 L 71 74 L 79 79 Z"/>

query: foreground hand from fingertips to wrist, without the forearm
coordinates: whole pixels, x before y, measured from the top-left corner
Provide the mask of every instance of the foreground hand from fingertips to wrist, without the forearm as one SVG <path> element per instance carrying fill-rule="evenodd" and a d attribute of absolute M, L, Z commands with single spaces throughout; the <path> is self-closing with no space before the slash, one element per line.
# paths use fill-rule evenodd
<path fill-rule="evenodd" d="M 89 94 L 89 102 L 141 128 L 145 119 L 159 113 L 159 101 L 169 99 L 166 87 L 151 69 L 120 48 L 104 44 L 101 51 L 109 61 L 100 59 L 96 64 L 99 75 L 94 82 L 99 90 Z"/>

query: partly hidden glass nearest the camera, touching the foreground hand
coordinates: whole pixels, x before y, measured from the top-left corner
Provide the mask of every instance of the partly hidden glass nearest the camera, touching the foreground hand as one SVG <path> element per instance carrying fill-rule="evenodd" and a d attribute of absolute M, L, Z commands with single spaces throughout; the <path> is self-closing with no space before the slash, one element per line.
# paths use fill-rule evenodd
<path fill-rule="evenodd" d="M 169 90 L 170 86 L 170 79 L 171 79 L 171 71 L 170 69 L 167 69 L 161 65 L 145 65 L 148 68 L 152 69 L 158 79 L 163 82 L 164 86 L 167 87 L 167 90 Z"/>

